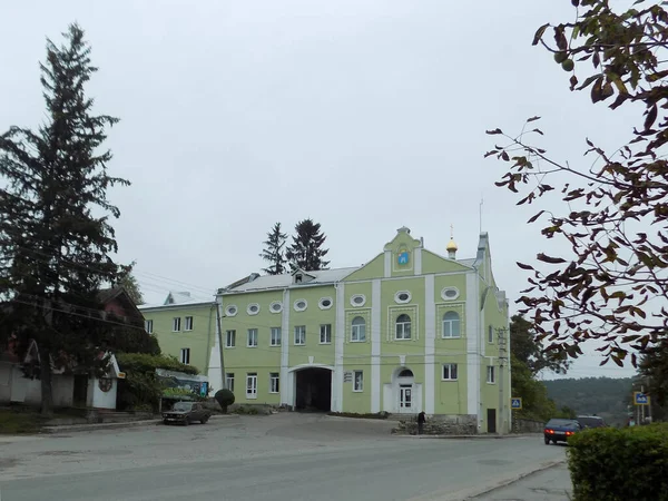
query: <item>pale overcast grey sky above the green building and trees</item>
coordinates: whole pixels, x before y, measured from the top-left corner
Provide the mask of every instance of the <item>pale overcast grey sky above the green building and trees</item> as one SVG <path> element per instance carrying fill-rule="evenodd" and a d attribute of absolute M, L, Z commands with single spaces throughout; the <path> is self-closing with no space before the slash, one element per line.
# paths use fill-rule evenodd
<path fill-rule="evenodd" d="M 537 210 L 493 183 L 495 137 L 540 115 L 542 145 L 580 163 L 589 136 L 616 148 L 637 121 L 595 107 L 531 46 L 568 0 L 40 0 L 0 4 L 0 130 L 43 117 L 45 39 L 78 21 L 100 71 L 96 111 L 109 135 L 121 262 L 137 261 L 148 302 L 169 289 L 203 297 L 264 264 L 266 232 L 322 224 L 332 267 L 360 265 L 405 225 L 459 257 L 489 232 L 495 276 L 511 298 L 517 261 L 553 243 L 525 224 Z M 590 161 L 590 160 L 587 160 Z M 515 308 L 514 304 L 512 305 Z M 598 369 L 570 376 L 632 374 Z"/>

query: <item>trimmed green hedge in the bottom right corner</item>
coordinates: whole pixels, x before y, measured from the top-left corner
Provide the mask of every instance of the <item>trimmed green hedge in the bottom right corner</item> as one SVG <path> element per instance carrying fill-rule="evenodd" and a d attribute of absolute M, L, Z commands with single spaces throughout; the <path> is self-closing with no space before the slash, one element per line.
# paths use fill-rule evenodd
<path fill-rule="evenodd" d="M 573 501 L 668 501 L 668 423 L 590 429 L 568 443 Z"/>

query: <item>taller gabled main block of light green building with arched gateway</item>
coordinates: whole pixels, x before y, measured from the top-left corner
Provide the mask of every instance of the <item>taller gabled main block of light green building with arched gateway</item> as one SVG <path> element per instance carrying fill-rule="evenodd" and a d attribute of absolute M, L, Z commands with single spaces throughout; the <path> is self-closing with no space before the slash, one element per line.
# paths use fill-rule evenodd
<path fill-rule="evenodd" d="M 446 252 L 428 250 L 403 227 L 364 266 L 254 274 L 219 289 L 224 372 L 236 402 L 424 411 L 508 432 L 509 310 L 488 235 L 475 257 L 456 259 L 454 242 Z"/>

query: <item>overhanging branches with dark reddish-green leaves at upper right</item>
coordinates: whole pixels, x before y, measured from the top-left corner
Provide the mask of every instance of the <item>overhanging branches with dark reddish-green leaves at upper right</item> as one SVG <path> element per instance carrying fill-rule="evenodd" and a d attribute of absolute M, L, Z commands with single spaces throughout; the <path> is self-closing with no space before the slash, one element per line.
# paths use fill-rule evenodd
<path fill-rule="evenodd" d="M 498 185 L 520 193 L 518 204 L 554 194 L 563 203 L 529 223 L 544 220 L 542 235 L 567 242 L 568 255 L 538 254 L 540 267 L 518 263 L 531 273 L 521 312 L 539 337 L 572 357 L 582 354 L 581 343 L 598 340 L 603 364 L 630 358 L 636 365 L 635 351 L 655 345 L 668 328 L 668 13 L 644 0 L 627 10 L 608 0 L 571 2 L 576 20 L 540 27 L 533 45 L 570 76 L 571 90 L 638 112 L 628 143 L 606 151 L 587 139 L 586 155 L 596 161 L 560 161 L 530 139 L 543 135 L 533 117 L 519 135 L 489 130 L 500 144 L 487 155 L 507 163 Z M 660 303 L 648 304 L 657 297 Z"/>

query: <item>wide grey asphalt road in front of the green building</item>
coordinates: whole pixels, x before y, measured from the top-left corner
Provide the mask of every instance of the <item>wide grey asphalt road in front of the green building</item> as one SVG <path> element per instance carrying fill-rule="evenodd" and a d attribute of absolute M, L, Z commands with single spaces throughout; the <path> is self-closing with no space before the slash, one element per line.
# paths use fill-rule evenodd
<path fill-rule="evenodd" d="M 390 428 L 278 414 L 4 440 L 1 500 L 442 500 L 563 458 L 540 438 L 424 440 Z"/>

